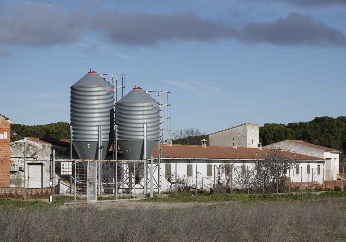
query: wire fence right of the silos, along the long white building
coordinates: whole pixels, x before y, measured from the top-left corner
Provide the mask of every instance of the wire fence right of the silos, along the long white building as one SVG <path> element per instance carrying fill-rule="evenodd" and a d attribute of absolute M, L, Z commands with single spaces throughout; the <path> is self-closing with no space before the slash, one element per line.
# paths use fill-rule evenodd
<path fill-rule="evenodd" d="M 186 164 L 166 163 L 163 166 L 163 192 L 245 192 L 276 193 L 306 189 L 344 187 L 343 178 L 334 177 L 334 169 L 323 164 L 295 164 L 282 173 L 275 169 L 258 171 L 254 164 Z M 326 179 L 330 179 L 330 184 Z M 334 182 L 333 182 L 334 180 Z M 340 184 L 339 184 L 340 183 Z M 333 186 L 334 184 L 334 186 Z"/>

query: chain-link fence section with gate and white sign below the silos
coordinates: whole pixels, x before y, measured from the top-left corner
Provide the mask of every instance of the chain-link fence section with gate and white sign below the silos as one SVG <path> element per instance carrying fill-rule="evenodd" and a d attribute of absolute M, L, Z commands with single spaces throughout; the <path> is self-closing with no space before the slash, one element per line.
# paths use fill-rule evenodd
<path fill-rule="evenodd" d="M 150 186 L 150 166 L 147 161 L 56 160 L 53 186 L 67 202 L 142 198 L 150 187 L 158 191 L 157 178 Z"/>

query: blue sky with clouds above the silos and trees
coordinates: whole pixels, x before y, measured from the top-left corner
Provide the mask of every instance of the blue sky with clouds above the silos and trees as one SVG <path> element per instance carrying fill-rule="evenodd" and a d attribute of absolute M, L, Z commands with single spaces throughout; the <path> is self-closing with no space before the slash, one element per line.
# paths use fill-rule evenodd
<path fill-rule="evenodd" d="M 70 122 L 90 68 L 171 91 L 171 129 L 345 115 L 345 0 L 1 1 L 0 113 Z"/>

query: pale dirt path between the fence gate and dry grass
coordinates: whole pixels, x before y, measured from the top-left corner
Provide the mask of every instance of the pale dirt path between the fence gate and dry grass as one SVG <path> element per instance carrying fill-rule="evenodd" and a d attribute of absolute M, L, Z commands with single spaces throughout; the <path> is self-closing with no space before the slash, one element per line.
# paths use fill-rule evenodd
<path fill-rule="evenodd" d="M 69 210 L 79 207 L 93 207 L 95 209 L 104 210 L 107 208 L 115 208 L 118 210 L 135 210 L 135 209 L 169 209 L 169 208 L 189 208 L 201 207 L 219 204 L 221 202 L 210 203 L 170 203 L 170 202 L 140 202 L 140 201 L 116 201 L 116 202 L 101 202 L 101 203 L 84 203 L 84 204 L 66 204 L 61 208 Z M 228 203 L 228 202 L 222 202 Z"/>

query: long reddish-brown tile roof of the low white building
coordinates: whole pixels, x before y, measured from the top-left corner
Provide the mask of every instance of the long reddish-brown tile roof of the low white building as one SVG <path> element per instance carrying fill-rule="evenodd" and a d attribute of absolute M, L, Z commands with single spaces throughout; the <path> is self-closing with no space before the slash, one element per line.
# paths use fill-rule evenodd
<path fill-rule="evenodd" d="M 202 146 L 194 146 L 194 145 L 172 145 L 166 146 L 162 145 L 162 158 L 187 158 L 187 159 L 254 159 L 257 157 L 259 159 L 263 159 L 265 157 L 264 150 L 270 149 L 262 149 L 263 152 L 259 152 L 261 150 L 257 148 L 244 148 L 238 147 L 234 149 L 233 147 L 220 147 L 220 146 L 207 146 L 204 148 Z M 157 147 L 154 150 L 153 157 L 157 158 Z M 289 154 L 288 151 L 280 151 L 283 153 Z M 319 157 L 307 156 L 296 154 L 296 158 L 298 160 L 326 160 Z"/>

